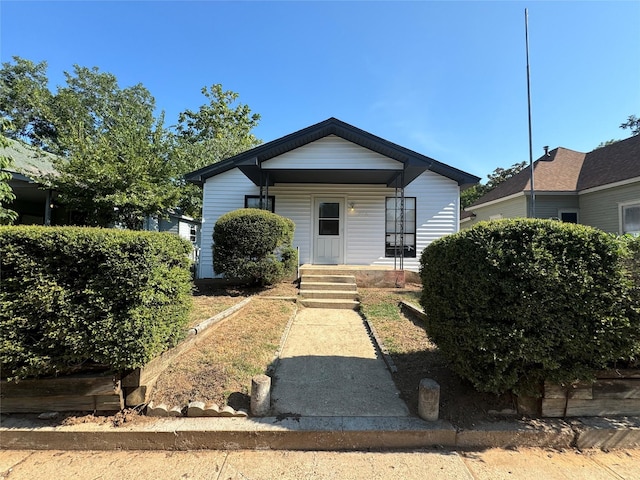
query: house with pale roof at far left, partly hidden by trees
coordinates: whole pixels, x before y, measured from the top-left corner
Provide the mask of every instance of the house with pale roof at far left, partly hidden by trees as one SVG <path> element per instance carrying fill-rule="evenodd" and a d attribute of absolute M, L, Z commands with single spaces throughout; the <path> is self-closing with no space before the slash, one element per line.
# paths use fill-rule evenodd
<path fill-rule="evenodd" d="M 54 208 L 56 194 L 40 179 L 55 175 L 55 155 L 44 152 L 26 143 L 7 138 L 10 145 L 0 148 L 0 155 L 10 157 L 13 164 L 7 169 L 11 173 L 9 185 L 16 196 L 7 208 L 18 213 L 17 225 L 59 225 L 64 223 L 66 213 Z"/>

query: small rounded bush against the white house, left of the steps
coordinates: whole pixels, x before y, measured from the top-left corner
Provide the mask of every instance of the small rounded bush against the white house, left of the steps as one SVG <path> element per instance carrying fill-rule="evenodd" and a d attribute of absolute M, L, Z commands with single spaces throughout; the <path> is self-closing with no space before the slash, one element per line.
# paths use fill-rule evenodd
<path fill-rule="evenodd" d="M 213 230 L 213 269 L 226 278 L 272 285 L 293 275 L 295 224 L 266 210 L 242 208 L 222 215 Z"/>

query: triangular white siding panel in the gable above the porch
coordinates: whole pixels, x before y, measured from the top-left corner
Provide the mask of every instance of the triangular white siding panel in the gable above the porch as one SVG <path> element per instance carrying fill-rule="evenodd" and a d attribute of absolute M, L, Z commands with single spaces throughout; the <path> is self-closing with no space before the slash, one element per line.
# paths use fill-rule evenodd
<path fill-rule="evenodd" d="M 267 160 L 262 168 L 401 170 L 402 163 L 343 138 L 329 135 Z"/>

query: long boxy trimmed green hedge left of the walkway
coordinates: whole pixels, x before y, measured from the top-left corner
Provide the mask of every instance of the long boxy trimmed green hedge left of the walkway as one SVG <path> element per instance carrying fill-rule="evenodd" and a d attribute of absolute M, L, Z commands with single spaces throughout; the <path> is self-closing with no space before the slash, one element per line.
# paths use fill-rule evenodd
<path fill-rule="evenodd" d="M 3 377 L 144 365 L 183 335 L 188 242 L 165 233 L 0 228 Z"/>

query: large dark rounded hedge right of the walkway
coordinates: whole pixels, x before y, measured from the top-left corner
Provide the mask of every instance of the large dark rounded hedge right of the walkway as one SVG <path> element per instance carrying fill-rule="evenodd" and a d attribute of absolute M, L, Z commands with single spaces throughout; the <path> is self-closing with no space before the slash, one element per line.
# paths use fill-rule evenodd
<path fill-rule="evenodd" d="M 638 353 L 640 300 L 622 252 L 609 234 L 550 220 L 444 237 L 421 257 L 428 334 L 480 391 L 588 380 Z"/>

